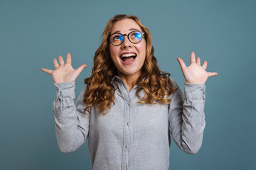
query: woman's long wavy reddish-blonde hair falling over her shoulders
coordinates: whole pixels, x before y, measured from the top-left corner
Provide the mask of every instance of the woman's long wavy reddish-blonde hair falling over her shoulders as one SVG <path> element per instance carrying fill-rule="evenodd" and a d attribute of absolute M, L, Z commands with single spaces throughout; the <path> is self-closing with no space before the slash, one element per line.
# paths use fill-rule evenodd
<path fill-rule="evenodd" d="M 171 99 L 165 98 L 170 96 L 176 89 L 169 79 L 170 74 L 162 72 L 157 64 L 156 57 L 154 57 L 154 47 L 152 46 L 151 34 L 136 16 L 117 15 L 107 22 L 104 32 L 102 33 L 102 42 L 95 52 L 94 66 L 92 68 L 92 75 L 85 79 L 87 84 L 87 91 L 85 91 L 83 102 L 85 103 L 85 111 L 88 111 L 92 105 L 95 105 L 100 110 L 100 115 L 106 109 L 110 108 L 111 103 L 114 104 L 114 86 L 112 79 L 117 75 L 117 68 L 114 66 L 110 56 L 110 42 L 108 37 L 114 23 L 124 19 L 134 20 L 146 39 L 146 57 L 142 67 L 142 74 L 140 75 L 137 84 L 139 89 L 136 95 L 141 100 L 138 103 L 149 103 L 150 105 L 160 103 L 171 103 Z M 144 96 L 139 96 L 139 92 L 144 90 Z M 90 113 L 90 111 L 89 111 Z"/>

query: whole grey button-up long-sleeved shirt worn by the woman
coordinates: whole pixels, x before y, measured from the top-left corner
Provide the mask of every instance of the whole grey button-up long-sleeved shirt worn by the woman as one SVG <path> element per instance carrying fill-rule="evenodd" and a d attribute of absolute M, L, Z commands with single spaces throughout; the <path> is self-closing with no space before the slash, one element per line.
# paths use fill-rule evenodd
<path fill-rule="evenodd" d="M 205 84 L 184 83 L 184 96 L 178 88 L 170 104 L 137 103 L 134 86 L 128 91 L 124 81 L 115 77 L 114 103 L 106 115 L 92 106 L 86 117 L 82 98 L 86 86 L 75 101 L 75 82 L 55 84 L 53 101 L 55 132 L 61 152 L 73 152 L 88 138 L 92 170 L 168 170 L 171 137 L 189 154 L 196 154 L 205 128 Z M 140 92 L 140 96 L 143 95 Z"/>

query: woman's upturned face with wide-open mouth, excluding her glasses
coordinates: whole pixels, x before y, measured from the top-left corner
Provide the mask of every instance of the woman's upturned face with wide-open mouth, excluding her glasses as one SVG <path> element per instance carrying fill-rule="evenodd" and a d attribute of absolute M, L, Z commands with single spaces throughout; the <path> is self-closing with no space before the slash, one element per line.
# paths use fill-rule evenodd
<path fill-rule="evenodd" d="M 128 34 L 133 30 L 139 30 L 142 33 L 142 29 L 134 20 L 124 19 L 114 23 L 110 35 L 112 33 Z M 127 57 L 128 54 L 134 56 Z M 119 77 L 135 76 L 138 78 L 146 57 L 146 40 L 142 38 L 141 42 L 133 44 L 128 40 L 127 35 L 124 35 L 121 45 L 114 46 L 110 43 L 110 55 L 117 67 Z"/>

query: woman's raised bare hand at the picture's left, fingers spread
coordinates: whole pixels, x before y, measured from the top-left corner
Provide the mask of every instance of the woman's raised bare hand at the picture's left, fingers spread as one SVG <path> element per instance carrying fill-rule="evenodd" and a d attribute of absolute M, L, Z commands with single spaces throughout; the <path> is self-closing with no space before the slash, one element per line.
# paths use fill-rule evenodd
<path fill-rule="evenodd" d="M 58 60 L 60 65 L 58 64 L 57 59 L 53 59 L 55 70 L 41 68 L 42 72 L 46 72 L 53 77 L 53 81 L 57 85 L 61 82 L 75 81 L 75 79 L 77 79 L 79 74 L 82 72 L 82 69 L 87 67 L 86 64 L 82 64 L 80 67 L 78 67 L 78 69 L 73 69 L 71 65 L 70 53 L 67 54 L 66 64 L 64 63 L 63 57 L 60 55 L 58 56 Z"/>

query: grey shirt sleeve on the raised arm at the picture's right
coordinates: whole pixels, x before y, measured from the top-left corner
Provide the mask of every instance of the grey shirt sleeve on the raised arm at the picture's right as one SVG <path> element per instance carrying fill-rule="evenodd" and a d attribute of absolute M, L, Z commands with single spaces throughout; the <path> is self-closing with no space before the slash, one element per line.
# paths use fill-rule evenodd
<path fill-rule="evenodd" d="M 169 104 L 169 132 L 176 145 L 188 154 L 196 154 L 203 142 L 203 130 L 206 126 L 204 106 L 206 98 L 205 84 L 184 83 L 184 96 L 176 81 Z"/>

